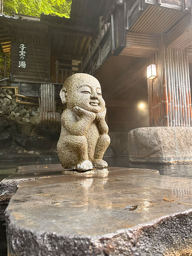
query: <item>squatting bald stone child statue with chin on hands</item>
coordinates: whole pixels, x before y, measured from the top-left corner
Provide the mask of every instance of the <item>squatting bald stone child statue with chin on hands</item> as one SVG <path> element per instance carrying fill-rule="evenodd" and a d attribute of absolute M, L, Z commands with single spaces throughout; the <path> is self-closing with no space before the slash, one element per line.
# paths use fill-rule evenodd
<path fill-rule="evenodd" d="M 110 137 L 99 81 L 84 73 L 69 76 L 60 91 L 60 98 L 66 105 L 57 143 L 62 167 L 86 171 L 108 166 L 102 159 Z"/>

